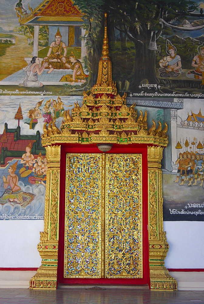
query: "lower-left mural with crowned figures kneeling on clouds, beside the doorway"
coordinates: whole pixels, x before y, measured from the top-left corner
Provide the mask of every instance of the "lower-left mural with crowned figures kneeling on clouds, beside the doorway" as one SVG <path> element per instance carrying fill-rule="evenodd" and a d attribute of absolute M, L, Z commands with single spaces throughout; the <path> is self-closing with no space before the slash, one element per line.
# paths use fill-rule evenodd
<path fill-rule="evenodd" d="M 81 104 L 80 99 L 0 98 L 0 219 L 44 218 L 47 158 L 41 145 L 43 126 L 52 122 L 60 126 L 66 109 Z"/>

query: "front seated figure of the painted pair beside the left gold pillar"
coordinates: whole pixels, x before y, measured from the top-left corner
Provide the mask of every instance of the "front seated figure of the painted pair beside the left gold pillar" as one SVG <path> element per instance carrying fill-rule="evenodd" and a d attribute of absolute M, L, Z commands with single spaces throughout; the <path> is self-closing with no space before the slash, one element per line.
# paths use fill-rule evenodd
<path fill-rule="evenodd" d="M 44 186 L 46 186 L 45 182 L 46 178 L 43 176 L 44 171 L 45 171 L 45 166 L 42 163 L 43 160 L 43 156 L 40 154 L 37 157 L 37 162 L 34 164 L 32 172 L 34 172 L 35 176 L 29 176 L 28 181 L 29 183 L 31 183 L 32 185 L 38 185 L 38 184 L 42 184 Z"/>

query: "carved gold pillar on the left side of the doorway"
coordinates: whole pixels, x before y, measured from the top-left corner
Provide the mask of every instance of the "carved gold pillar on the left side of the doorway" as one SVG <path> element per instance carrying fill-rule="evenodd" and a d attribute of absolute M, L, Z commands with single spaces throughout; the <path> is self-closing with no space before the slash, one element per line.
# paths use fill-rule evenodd
<path fill-rule="evenodd" d="M 42 264 L 30 279 L 31 289 L 56 289 L 59 234 L 60 147 L 46 147 L 47 181 L 45 195 L 44 232 L 37 246 Z"/>

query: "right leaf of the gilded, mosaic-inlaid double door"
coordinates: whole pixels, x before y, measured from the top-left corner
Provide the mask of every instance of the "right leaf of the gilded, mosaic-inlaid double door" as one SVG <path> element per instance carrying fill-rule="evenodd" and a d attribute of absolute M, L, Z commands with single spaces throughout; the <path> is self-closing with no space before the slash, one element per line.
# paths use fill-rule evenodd
<path fill-rule="evenodd" d="M 142 278 L 141 154 L 106 155 L 106 277 Z"/>

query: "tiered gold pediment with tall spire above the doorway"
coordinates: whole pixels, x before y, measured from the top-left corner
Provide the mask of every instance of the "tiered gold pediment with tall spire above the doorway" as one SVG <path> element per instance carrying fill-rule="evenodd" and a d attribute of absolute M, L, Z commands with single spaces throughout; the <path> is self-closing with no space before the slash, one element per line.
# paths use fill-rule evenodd
<path fill-rule="evenodd" d="M 97 83 L 91 92 L 83 92 L 83 105 L 74 103 L 72 116 L 69 110 L 64 112 L 61 131 L 55 120 L 45 123 L 42 145 L 53 143 L 148 143 L 166 147 L 167 129 L 162 130 L 161 122 L 156 128 L 147 130 L 147 111 L 140 111 L 137 117 L 135 104 L 126 105 L 127 94 L 121 97 L 117 93 L 116 83 L 112 80 L 112 67 L 108 49 L 107 14 L 105 13 L 104 40 L 102 57 L 99 60 Z"/>

